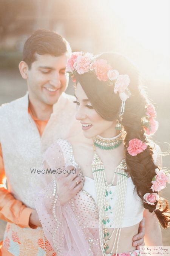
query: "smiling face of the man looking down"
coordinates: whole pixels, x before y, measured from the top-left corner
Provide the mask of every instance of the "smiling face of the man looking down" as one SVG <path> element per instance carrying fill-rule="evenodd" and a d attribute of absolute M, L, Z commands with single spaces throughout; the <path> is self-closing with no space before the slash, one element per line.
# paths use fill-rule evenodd
<path fill-rule="evenodd" d="M 54 57 L 52 55 L 39 55 L 27 71 L 28 91 L 31 99 L 53 105 L 66 90 L 68 75 L 66 68 L 66 53 Z"/>

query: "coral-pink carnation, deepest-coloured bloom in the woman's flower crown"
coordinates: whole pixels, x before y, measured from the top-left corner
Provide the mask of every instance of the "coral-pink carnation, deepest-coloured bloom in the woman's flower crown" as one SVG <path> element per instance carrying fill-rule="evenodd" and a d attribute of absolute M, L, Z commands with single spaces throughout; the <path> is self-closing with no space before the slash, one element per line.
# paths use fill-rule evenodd
<path fill-rule="evenodd" d="M 97 60 L 94 63 L 93 69 L 96 71 L 97 78 L 100 81 L 107 81 L 107 73 L 111 69 L 111 66 L 107 63 L 106 60 Z"/>

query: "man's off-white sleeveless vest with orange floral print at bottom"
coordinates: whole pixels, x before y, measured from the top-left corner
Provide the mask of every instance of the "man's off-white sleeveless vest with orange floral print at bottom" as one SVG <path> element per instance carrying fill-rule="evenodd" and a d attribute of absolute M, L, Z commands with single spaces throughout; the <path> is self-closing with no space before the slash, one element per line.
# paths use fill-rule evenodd
<path fill-rule="evenodd" d="M 53 105 L 42 137 L 28 113 L 28 93 L 0 107 L 0 143 L 8 189 L 27 207 L 34 208 L 39 183 L 38 176 L 31 173 L 30 168 L 35 170 L 41 166 L 43 152 L 58 138 L 69 138 L 81 131 L 80 123 L 75 119 L 73 99 L 73 96 L 62 93 Z M 8 251 L 15 256 L 55 255 L 42 228 L 20 228 L 14 223 L 8 223 L 6 227 L 4 241 L 9 244 Z"/>

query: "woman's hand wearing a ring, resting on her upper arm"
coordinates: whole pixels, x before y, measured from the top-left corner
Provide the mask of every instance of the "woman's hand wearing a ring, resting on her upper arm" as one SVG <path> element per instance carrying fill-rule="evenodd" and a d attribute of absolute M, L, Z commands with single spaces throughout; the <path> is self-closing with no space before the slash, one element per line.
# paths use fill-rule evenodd
<path fill-rule="evenodd" d="M 74 170 L 74 166 L 67 166 L 65 170 Z M 83 182 L 79 174 L 79 170 L 76 169 L 76 173 L 60 173 L 57 174 L 57 195 L 60 201 L 60 204 L 68 202 L 73 198 L 83 187 Z M 78 182 L 78 184 L 76 183 Z"/>

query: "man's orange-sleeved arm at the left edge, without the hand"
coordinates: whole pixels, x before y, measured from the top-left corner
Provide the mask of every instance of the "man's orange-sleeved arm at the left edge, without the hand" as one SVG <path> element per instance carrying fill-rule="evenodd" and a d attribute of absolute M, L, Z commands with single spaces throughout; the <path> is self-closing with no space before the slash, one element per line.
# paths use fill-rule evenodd
<path fill-rule="evenodd" d="M 35 225 L 29 225 L 29 217 L 33 209 L 26 207 L 21 201 L 15 199 L 6 189 L 5 183 L 5 168 L 0 144 L 0 219 L 15 223 L 21 228 L 37 228 Z"/>

